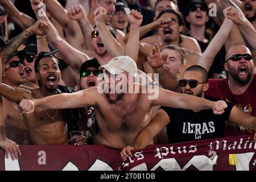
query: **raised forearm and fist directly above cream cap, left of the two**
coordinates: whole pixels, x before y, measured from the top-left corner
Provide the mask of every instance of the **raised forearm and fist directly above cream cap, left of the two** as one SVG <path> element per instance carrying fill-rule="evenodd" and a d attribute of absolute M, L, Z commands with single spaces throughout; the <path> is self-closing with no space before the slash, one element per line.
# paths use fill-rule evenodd
<path fill-rule="evenodd" d="M 117 42 L 117 40 L 114 39 L 105 24 L 105 17 L 107 14 L 108 11 L 104 9 L 104 7 L 97 7 L 94 11 L 94 22 L 98 28 L 98 32 L 101 35 L 101 40 L 108 53 L 113 57 L 123 56 L 125 52 L 123 47 Z"/>

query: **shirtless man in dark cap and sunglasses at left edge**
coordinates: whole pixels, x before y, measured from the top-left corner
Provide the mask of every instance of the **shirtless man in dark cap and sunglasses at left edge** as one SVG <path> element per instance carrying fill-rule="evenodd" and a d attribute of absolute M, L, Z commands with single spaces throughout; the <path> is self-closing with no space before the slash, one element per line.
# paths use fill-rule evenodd
<path fill-rule="evenodd" d="M 25 57 L 26 52 L 19 51 L 7 59 L 2 77 L 4 84 L 18 88 L 19 85 L 26 82 L 24 75 Z M 18 144 L 31 144 L 27 121 L 21 113 L 22 111 L 18 104 L 3 97 L 6 137 Z"/>

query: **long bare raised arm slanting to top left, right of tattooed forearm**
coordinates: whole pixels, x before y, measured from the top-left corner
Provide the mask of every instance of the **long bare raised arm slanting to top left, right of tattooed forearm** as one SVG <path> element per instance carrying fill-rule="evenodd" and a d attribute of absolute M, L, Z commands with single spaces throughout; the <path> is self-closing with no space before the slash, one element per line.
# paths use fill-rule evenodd
<path fill-rule="evenodd" d="M 60 35 L 58 34 L 56 28 L 52 25 L 51 22 L 49 22 L 49 19 L 47 18 L 44 11 L 38 9 L 39 3 L 36 2 L 32 4 L 32 9 L 34 10 L 34 13 L 36 14 L 38 19 L 44 20 L 48 22 L 48 25 L 50 27 L 50 30 L 47 34 L 47 38 L 49 42 L 53 44 L 54 47 L 59 49 L 60 54 L 63 56 L 63 59 L 66 61 L 66 63 L 72 67 L 75 71 L 79 72 L 80 65 L 85 61 L 89 59 L 89 56 L 85 53 L 80 52 L 79 50 L 73 48 L 71 45 L 69 45 L 65 40 L 63 40 Z M 40 16 L 38 16 L 38 11 L 40 11 Z"/>

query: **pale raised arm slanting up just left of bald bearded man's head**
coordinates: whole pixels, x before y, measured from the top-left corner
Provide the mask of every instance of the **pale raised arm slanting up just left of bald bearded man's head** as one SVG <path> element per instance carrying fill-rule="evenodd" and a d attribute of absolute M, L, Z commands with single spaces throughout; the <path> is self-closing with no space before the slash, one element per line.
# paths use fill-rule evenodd
<path fill-rule="evenodd" d="M 232 6 L 226 8 L 224 10 L 225 16 L 227 12 L 233 9 L 234 7 Z M 227 17 L 224 19 L 224 22 L 222 23 L 217 34 L 210 41 L 207 49 L 205 49 L 205 51 L 197 61 L 197 65 L 204 67 L 207 70 L 207 72 L 209 71 L 210 66 L 212 65 L 212 62 L 214 60 L 214 57 L 217 55 L 218 51 L 220 51 L 221 47 L 226 42 L 226 39 L 228 38 L 229 32 L 232 30 L 233 25 L 233 22 L 229 20 Z"/>

